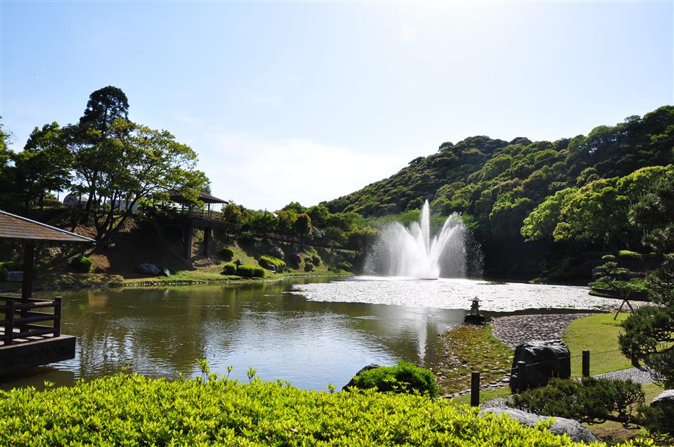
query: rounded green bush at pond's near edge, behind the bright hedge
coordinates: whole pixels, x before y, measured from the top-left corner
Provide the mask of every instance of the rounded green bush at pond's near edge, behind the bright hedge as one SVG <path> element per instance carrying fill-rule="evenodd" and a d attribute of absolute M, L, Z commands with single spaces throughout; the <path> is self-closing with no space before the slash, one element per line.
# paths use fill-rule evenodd
<path fill-rule="evenodd" d="M 438 385 L 436 385 L 436 376 L 431 370 L 419 368 L 418 366 L 407 363 L 404 360 L 398 360 L 397 366 L 382 366 L 372 370 L 363 371 L 353 377 L 356 388 L 367 390 L 375 388 L 377 391 L 404 390 L 412 392 L 414 390 L 422 394 L 428 394 L 431 397 L 438 394 Z"/>

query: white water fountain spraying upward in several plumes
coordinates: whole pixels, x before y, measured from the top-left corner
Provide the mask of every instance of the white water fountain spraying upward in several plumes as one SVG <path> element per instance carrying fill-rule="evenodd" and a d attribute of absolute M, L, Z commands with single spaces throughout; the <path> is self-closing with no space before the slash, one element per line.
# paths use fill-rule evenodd
<path fill-rule="evenodd" d="M 431 237 L 429 202 L 421 207 L 419 222 L 406 228 L 392 223 L 380 233 L 368 257 L 368 267 L 389 276 L 434 280 L 466 276 L 466 228 L 461 216 L 447 218 Z"/>

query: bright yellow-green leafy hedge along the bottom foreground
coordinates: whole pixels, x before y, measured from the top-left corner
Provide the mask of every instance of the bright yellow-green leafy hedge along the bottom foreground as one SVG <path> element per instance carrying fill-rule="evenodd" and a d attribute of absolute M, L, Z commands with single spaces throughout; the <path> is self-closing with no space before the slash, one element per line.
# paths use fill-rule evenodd
<path fill-rule="evenodd" d="M 118 374 L 0 391 L 0 445 L 581 446 L 414 394 L 314 392 L 284 382 Z M 631 446 L 631 443 L 622 444 Z M 602 444 L 594 443 L 594 447 Z"/>

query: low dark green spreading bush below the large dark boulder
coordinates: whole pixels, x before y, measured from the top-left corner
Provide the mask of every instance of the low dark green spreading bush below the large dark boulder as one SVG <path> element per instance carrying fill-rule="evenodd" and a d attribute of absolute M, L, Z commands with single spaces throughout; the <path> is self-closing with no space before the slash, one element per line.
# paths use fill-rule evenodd
<path fill-rule="evenodd" d="M 583 377 L 577 380 L 553 378 L 545 387 L 511 397 L 514 407 L 527 412 L 561 416 L 589 424 L 635 421 L 635 412 L 645 397 L 641 385 L 631 380 Z"/>

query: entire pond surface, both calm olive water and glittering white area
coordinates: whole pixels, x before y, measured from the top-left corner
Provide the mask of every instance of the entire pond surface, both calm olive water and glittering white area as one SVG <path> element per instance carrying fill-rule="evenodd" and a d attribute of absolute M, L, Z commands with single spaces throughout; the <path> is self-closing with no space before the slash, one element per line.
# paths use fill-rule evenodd
<path fill-rule="evenodd" d="M 499 312 L 607 304 L 583 287 L 372 277 L 35 295 L 55 294 L 63 297 L 62 333 L 77 336 L 76 357 L 18 379 L 0 377 L 0 387 L 70 385 L 126 366 L 152 377 L 193 376 L 206 358 L 221 375 L 232 365 L 231 377 L 248 380 L 250 367 L 263 380 L 326 390 L 370 363 L 433 365 L 438 336 L 463 321 L 475 295 L 481 307 Z"/>

